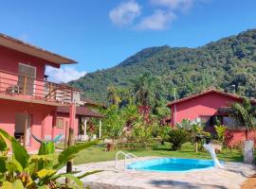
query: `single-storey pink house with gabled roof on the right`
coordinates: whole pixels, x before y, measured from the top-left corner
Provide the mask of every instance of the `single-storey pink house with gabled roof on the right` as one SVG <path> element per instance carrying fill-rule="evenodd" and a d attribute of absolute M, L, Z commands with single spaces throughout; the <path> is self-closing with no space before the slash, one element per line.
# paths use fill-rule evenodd
<path fill-rule="evenodd" d="M 242 101 L 241 96 L 214 89 L 175 100 L 167 105 L 172 111 L 171 126 L 174 127 L 183 119 L 189 119 L 195 122 L 204 122 L 207 129 L 214 131 L 214 122 L 218 118 L 221 124 L 229 128 L 229 132 L 227 132 L 229 145 L 238 145 L 245 139 L 245 132 L 243 129 L 233 129 L 237 127 L 238 123 L 230 117 L 229 107 L 232 103 Z M 254 138 L 255 136 L 254 131 L 251 131 L 250 137 Z"/>

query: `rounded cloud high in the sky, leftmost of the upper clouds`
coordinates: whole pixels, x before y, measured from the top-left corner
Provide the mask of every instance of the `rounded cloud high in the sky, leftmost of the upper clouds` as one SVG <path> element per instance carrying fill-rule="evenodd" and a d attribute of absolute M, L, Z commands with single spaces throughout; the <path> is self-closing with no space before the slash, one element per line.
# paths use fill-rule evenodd
<path fill-rule="evenodd" d="M 128 26 L 140 15 L 140 10 L 141 7 L 135 0 L 124 1 L 110 10 L 109 18 L 116 26 Z"/>

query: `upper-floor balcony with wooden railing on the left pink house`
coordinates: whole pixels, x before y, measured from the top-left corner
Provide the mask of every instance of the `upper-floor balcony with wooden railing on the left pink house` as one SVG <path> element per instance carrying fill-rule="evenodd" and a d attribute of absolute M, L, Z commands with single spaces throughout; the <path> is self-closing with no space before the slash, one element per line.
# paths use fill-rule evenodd
<path fill-rule="evenodd" d="M 64 84 L 0 70 L 0 98 L 60 106 L 79 101 L 80 91 Z"/>

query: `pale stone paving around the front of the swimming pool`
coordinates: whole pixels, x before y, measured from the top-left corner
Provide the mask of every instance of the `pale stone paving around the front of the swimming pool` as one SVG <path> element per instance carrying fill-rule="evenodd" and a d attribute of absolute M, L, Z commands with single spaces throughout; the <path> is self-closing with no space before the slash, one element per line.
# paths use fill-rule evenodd
<path fill-rule="evenodd" d="M 139 160 L 157 157 L 138 158 Z M 123 161 L 119 161 L 119 168 Z M 246 163 L 226 163 L 225 169 L 207 169 L 187 173 L 157 173 L 133 170 L 116 170 L 115 162 L 86 163 L 75 166 L 76 170 L 104 170 L 83 178 L 84 186 L 92 189 L 239 189 L 247 176 L 255 173 L 254 167 Z"/>

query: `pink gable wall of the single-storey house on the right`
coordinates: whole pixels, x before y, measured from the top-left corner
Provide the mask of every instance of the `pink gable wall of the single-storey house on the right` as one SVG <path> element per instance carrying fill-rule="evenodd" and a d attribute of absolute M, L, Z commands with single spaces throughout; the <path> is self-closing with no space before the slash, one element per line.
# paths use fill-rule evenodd
<path fill-rule="evenodd" d="M 176 121 L 174 121 L 174 105 L 172 105 L 172 126 L 183 119 L 194 120 L 200 116 L 214 115 L 221 107 L 229 106 L 240 100 L 214 92 L 196 96 L 192 99 L 176 103 Z"/>

